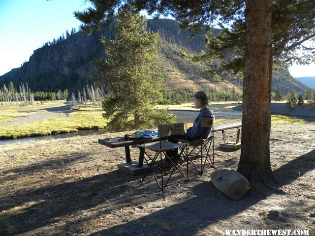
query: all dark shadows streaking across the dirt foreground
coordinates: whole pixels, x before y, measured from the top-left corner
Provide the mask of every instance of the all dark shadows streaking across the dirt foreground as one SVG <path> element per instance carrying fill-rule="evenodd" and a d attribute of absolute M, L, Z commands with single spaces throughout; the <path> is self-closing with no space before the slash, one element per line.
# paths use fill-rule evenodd
<path fill-rule="evenodd" d="M 305 173 L 314 170 L 314 156 L 315 150 L 275 170 L 274 176 L 280 183 L 279 187 L 287 185 Z M 73 161 L 79 161 L 80 158 L 74 158 Z M 43 165 L 38 164 L 30 168 L 10 171 L 13 175 L 23 175 L 28 171 L 52 164 L 53 162 L 46 162 Z M 76 225 L 76 221 L 80 224 L 82 221 L 109 214 L 120 207 L 160 201 L 165 195 L 173 194 L 175 198 L 179 191 L 191 191 L 192 194 L 178 204 L 157 210 L 135 220 L 125 218 L 123 223 L 118 226 L 112 226 L 90 235 L 194 235 L 220 220 L 233 217 L 233 215 L 244 211 L 271 194 L 280 194 L 266 189 L 258 183 L 241 201 L 232 201 L 219 194 L 210 181 L 195 184 L 192 189 L 189 189 L 187 187 L 179 188 L 175 179 L 169 183 L 164 192 L 161 192 L 152 176 L 148 176 L 145 183 L 140 183 L 141 177 L 130 176 L 115 170 L 72 182 L 30 189 L 23 193 L 17 192 L 14 196 L 10 196 L 15 202 L 8 207 L 0 207 L 1 211 L 21 207 L 26 202 L 33 202 L 34 204 L 17 214 L 4 211 L 0 216 L 0 234 L 27 233 L 52 225 L 68 215 L 79 214 L 76 215 L 77 219 L 73 217 L 73 220 L 68 221 L 62 227 L 63 233 L 71 234 L 67 229 L 71 225 Z M 183 182 L 181 177 L 174 178 Z M 1 181 L 3 180 L 1 179 Z M 95 210 L 95 213 L 90 216 L 84 216 L 80 213 L 81 211 L 92 211 L 98 206 L 102 206 L 101 210 Z M 6 222 L 15 222 L 14 229 L 8 229 Z M 80 234 L 80 232 L 76 232 L 76 234 Z M 84 234 L 86 235 L 86 233 Z"/>

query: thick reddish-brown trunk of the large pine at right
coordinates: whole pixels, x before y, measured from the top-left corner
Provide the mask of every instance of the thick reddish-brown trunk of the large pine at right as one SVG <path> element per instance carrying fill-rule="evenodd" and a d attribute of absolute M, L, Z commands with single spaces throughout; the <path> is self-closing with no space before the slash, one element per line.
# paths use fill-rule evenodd
<path fill-rule="evenodd" d="M 255 181 L 272 178 L 270 101 L 272 0 L 246 0 L 242 150 L 238 171 Z"/>

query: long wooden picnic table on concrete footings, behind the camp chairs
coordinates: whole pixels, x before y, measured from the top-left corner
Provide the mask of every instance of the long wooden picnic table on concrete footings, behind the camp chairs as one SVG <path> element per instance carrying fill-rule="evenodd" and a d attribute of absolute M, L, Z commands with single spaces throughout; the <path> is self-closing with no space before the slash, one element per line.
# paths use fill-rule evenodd
<path fill-rule="evenodd" d="M 241 147 L 241 143 L 239 142 L 240 130 L 242 127 L 242 123 L 231 123 L 224 125 L 215 125 L 213 126 L 213 132 L 222 132 L 224 143 L 220 143 L 220 147 L 223 148 L 235 148 L 238 149 Z M 237 137 L 236 142 L 230 142 L 227 140 L 225 135 L 225 130 L 237 128 Z M 159 138 L 140 138 L 140 139 L 126 139 L 125 137 L 116 137 L 116 138 L 107 138 L 107 139 L 98 139 L 98 143 L 101 145 L 105 145 L 108 148 L 125 148 L 126 154 L 126 163 L 118 164 L 118 168 L 126 171 L 131 175 L 137 175 L 145 172 L 147 170 L 148 165 L 143 164 L 143 153 L 139 153 L 139 161 L 132 161 L 130 156 L 130 146 L 142 145 L 147 143 L 158 142 Z"/>

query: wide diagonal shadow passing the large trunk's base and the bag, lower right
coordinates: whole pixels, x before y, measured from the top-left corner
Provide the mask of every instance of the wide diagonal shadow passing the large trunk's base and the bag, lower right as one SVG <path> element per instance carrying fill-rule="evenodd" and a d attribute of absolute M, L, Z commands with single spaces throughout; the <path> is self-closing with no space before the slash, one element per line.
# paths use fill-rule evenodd
<path fill-rule="evenodd" d="M 282 187 L 314 169 L 315 150 L 290 161 L 273 173 L 280 183 L 279 187 Z M 271 194 L 280 194 L 260 183 L 252 186 L 241 201 L 232 201 L 225 196 L 221 198 L 211 182 L 197 184 L 192 191 L 196 197 L 91 235 L 121 235 L 122 232 L 124 235 L 195 235 L 201 229 L 228 219 Z"/>

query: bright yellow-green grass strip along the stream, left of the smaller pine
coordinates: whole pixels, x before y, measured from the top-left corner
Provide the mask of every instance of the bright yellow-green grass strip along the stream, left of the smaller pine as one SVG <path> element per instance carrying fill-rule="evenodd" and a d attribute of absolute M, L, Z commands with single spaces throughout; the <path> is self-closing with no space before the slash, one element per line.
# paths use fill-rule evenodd
<path fill-rule="evenodd" d="M 102 112 L 73 112 L 67 118 L 49 118 L 21 123 L 19 126 L 1 126 L 0 139 L 46 136 L 76 132 L 84 129 L 102 129 L 106 120 Z"/>

